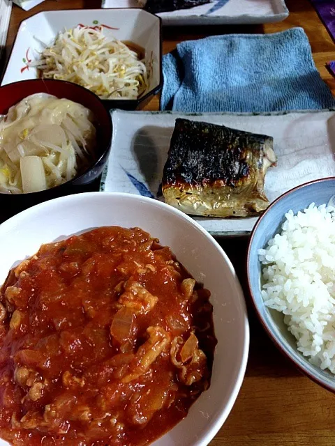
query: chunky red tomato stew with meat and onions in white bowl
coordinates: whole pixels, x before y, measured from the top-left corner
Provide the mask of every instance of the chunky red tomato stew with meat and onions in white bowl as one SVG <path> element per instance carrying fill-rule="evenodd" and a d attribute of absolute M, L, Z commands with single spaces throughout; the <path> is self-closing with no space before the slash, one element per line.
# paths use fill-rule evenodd
<path fill-rule="evenodd" d="M 142 446 L 209 387 L 209 291 L 170 248 L 118 226 L 43 245 L 0 293 L 0 436 Z"/>

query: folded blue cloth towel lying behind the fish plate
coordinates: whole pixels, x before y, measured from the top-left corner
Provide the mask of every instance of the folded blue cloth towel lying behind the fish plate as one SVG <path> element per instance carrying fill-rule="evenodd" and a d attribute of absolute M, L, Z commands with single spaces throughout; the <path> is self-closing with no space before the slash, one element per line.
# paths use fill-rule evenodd
<path fill-rule="evenodd" d="M 276 112 L 335 107 L 301 28 L 179 43 L 163 57 L 163 77 L 163 110 Z"/>

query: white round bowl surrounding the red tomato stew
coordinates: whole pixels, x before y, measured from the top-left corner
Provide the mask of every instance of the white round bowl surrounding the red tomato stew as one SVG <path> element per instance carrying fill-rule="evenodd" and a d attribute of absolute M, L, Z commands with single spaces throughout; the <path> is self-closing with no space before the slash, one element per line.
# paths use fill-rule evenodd
<path fill-rule="evenodd" d="M 211 291 L 218 344 L 209 390 L 188 416 L 153 446 L 205 446 L 234 404 L 246 369 L 249 345 L 244 296 L 232 264 L 214 238 L 190 217 L 165 203 L 131 194 L 93 192 L 61 197 L 24 210 L 0 226 L 0 282 L 8 270 L 42 243 L 96 226 L 139 226 L 168 245 Z M 0 446 L 6 445 L 0 440 Z"/>

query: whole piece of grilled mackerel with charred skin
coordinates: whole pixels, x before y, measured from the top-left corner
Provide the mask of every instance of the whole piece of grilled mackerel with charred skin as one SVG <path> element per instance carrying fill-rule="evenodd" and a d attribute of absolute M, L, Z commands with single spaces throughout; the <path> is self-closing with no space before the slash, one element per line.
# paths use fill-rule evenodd
<path fill-rule="evenodd" d="M 163 171 L 165 202 L 186 214 L 249 217 L 269 206 L 264 181 L 273 138 L 177 119 Z"/>

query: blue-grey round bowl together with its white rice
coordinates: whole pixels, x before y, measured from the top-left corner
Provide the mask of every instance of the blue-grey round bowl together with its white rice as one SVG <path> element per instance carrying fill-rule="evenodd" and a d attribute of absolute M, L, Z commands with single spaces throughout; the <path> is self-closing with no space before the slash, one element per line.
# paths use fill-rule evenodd
<path fill-rule="evenodd" d="M 251 233 L 247 276 L 278 348 L 335 392 L 335 177 L 295 187 L 269 206 Z"/>

